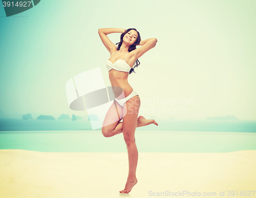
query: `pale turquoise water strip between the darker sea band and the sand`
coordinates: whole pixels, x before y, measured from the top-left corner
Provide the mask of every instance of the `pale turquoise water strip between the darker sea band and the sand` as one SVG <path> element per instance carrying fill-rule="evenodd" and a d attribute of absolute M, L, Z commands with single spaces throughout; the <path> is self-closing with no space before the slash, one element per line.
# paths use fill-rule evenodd
<path fill-rule="evenodd" d="M 231 152 L 256 150 L 256 133 L 136 131 L 139 152 Z M 0 149 L 44 152 L 127 152 L 123 135 L 105 138 L 101 131 L 5 131 Z"/>

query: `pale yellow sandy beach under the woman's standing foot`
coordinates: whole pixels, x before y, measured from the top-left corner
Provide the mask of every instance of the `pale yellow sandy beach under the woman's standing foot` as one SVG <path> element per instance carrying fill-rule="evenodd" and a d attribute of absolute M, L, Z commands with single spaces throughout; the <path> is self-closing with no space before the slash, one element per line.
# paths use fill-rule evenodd
<path fill-rule="evenodd" d="M 256 150 L 141 152 L 138 183 L 129 194 L 119 193 L 128 172 L 125 152 L 1 149 L 0 156 L 0 197 L 188 197 L 187 193 L 220 196 L 220 192 L 230 197 L 228 191 L 242 197 L 241 191 L 252 196 L 256 190 Z"/>

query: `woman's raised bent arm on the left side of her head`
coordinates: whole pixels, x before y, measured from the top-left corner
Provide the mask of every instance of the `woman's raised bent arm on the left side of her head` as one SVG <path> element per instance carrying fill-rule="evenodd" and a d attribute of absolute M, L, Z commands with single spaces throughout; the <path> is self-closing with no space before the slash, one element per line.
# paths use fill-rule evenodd
<path fill-rule="evenodd" d="M 98 33 L 99 33 L 99 37 L 102 40 L 104 46 L 111 53 L 114 49 L 116 49 L 116 46 L 113 42 L 111 42 L 109 37 L 106 35 L 111 34 L 111 33 L 123 33 L 125 31 L 126 30 L 123 28 L 100 28 L 98 30 Z"/>

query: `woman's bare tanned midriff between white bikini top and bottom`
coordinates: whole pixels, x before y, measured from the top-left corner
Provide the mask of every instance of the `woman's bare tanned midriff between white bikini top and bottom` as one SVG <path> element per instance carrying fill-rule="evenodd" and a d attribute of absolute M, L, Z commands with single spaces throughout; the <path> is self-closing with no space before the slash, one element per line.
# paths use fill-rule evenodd
<path fill-rule="evenodd" d="M 123 93 L 125 97 L 129 96 L 133 91 L 133 87 L 128 82 L 128 75 L 129 75 L 128 72 L 120 72 L 114 69 L 109 71 L 111 86 L 121 87 L 123 89 Z M 114 95 L 116 95 L 115 91 L 114 91 Z"/>

